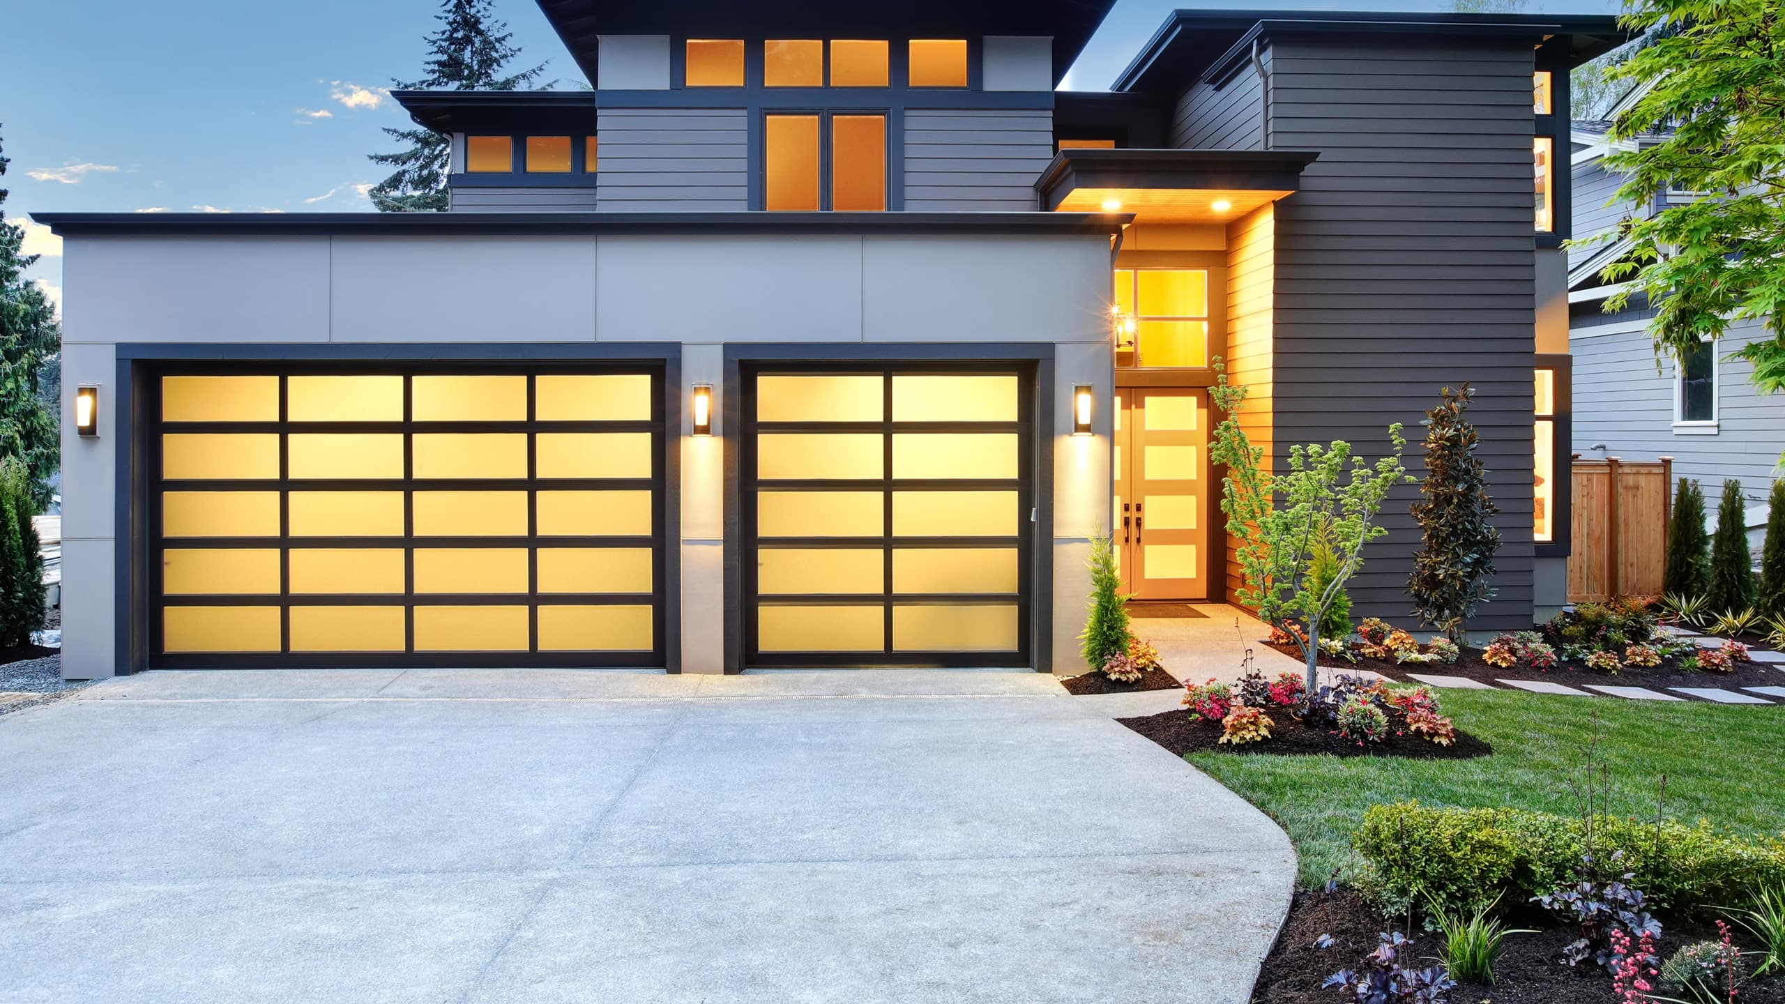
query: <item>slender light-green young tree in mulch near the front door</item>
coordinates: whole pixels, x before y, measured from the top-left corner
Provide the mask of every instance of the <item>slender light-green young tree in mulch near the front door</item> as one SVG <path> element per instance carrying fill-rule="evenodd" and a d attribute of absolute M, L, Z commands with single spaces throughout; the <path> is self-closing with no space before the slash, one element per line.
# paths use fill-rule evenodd
<path fill-rule="evenodd" d="M 1264 470 L 1264 448 L 1253 447 L 1239 425 L 1246 402 L 1246 388 L 1230 386 L 1226 372 L 1216 363 L 1216 386 L 1210 391 L 1221 409 L 1208 457 L 1226 464 L 1221 479 L 1221 511 L 1226 529 L 1239 540 L 1239 566 L 1244 584 L 1239 600 L 1258 611 L 1258 620 L 1289 629 L 1303 623 L 1303 632 L 1289 634 L 1307 659 L 1305 700 L 1319 688 L 1321 625 L 1330 616 L 1344 584 L 1364 565 L 1364 545 L 1389 532 L 1374 525 L 1389 489 L 1412 482 L 1401 466 L 1407 439 L 1401 425 L 1389 425 L 1392 452 L 1369 466 L 1351 456 L 1351 445 L 1333 439 L 1292 445 L 1289 464 L 1280 475 Z M 1314 552 L 1326 536 L 1337 568 L 1321 575 L 1310 573 Z"/>

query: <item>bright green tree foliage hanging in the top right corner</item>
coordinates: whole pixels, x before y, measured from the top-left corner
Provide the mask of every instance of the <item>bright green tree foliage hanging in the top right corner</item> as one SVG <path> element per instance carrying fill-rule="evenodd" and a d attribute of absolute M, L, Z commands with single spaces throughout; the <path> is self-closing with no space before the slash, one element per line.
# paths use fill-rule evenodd
<path fill-rule="evenodd" d="M 1773 338 L 1744 347 L 1762 391 L 1785 388 L 1785 18 L 1778 0 L 1633 0 L 1623 27 L 1651 43 L 1606 75 L 1648 86 L 1612 123 L 1628 148 L 1617 202 L 1662 205 L 1619 230 L 1631 254 L 1605 268 L 1606 313 L 1640 293 L 1656 314 L 1656 352 L 1681 357 L 1730 323 L 1760 320 Z M 1640 143 L 1639 143 L 1640 139 Z M 1703 198 L 1669 204 L 1667 191 Z"/>

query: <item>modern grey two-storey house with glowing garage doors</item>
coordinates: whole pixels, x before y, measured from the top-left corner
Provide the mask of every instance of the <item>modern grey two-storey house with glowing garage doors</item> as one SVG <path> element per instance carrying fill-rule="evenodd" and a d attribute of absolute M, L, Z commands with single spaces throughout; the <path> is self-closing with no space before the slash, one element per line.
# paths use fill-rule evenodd
<path fill-rule="evenodd" d="M 1217 359 L 1278 466 L 1471 382 L 1474 627 L 1560 606 L 1555 154 L 1612 18 L 1180 11 L 1057 91 L 1108 5 L 541 0 L 593 93 L 396 95 L 452 213 L 41 214 L 64 674 L 1080 672 L 1092 536 L 1233 593 Z"/>

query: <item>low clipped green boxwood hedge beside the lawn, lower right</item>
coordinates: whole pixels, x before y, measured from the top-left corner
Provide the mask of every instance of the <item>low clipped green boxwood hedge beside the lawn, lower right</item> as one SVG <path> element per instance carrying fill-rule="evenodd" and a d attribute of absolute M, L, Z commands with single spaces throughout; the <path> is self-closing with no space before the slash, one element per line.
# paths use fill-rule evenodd
<path fill-rule="evenodd" d="M 1451 913 L 1503 897 L 1517 906 L 1576 877 L 1585 820 L 1524 809 L 1444 809 L 1419 802 L 1371 806 L 1351 845 L 1369 861 L 1389 913 L 1430 897 Z M 1662 913 L 1748 902 L 1785 883 L 1785 832 L 1744 838 L 1699 820 L 1594 818 L 1599 859 L 1615 865 Z"/>

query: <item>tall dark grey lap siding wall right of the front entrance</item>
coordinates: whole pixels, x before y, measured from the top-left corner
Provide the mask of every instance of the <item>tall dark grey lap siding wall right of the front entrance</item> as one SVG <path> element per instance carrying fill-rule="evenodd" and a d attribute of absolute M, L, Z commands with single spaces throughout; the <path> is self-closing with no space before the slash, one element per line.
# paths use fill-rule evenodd
<path fill-rule="evenodd" d="M 1421 477 L 1419 422 L 1469 381 L 1496 523 L 1498 597 L 1476 631 L 1532 625 L 1532 50 L 1512 41 L 1280 39 L 1271 145 L 1319 150 L 1276 207 L 1273 413 L 1291 443 L 1346 439 L 1367 461 L 1401 422 Z M 1351 581 L 1353 616 L 1412 623 L 1419 547 L 1391 497 L 1385 538 Z"/>

